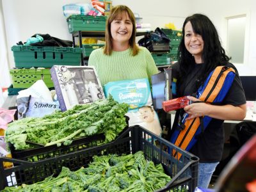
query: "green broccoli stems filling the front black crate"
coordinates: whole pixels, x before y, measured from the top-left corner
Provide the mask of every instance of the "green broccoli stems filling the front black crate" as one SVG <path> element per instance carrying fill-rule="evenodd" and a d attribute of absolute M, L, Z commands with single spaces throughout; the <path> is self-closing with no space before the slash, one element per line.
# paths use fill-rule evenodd
<path fill-rule="evenodd" d="M 145 160 L 143 152 L 132 155 L 94 156 L 88 168 L 70 172 L 63 167 L 58 177 L 47 177 L 31 185 L 3 191 L 155 191 L 163 188 L 171 177 L 161 164 Z M 182 190 L 183 191 L 183 190 Z"/>

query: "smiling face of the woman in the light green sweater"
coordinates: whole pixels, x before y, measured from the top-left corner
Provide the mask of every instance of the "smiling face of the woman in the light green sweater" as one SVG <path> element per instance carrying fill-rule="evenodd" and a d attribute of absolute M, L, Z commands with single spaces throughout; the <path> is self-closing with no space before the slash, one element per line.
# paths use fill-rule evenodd
<path fill-rule="evenodd" d="M 126 12 L 116 17 L 111 22 L 111 36 L 113 40 L 113 48 L 122 45 L 124 49 L 129 48 L 129 39 L 132 36 L 132 22 Z"/>

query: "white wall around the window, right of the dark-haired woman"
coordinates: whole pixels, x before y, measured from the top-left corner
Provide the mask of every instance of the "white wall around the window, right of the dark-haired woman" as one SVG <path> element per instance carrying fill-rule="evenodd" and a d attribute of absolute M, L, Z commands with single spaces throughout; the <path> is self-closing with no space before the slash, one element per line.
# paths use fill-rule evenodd
<path fill-rule="evenodd" d="M 240 76 L 256 76 L 256 3 L 252 0 L 194 0 L 193 11 L 207 15 L 221 37 L 223 47 L 227 44 L 226 17 L 246 14 L 246 41 L 244 44 L 244 65 L 236 65 Z"/>

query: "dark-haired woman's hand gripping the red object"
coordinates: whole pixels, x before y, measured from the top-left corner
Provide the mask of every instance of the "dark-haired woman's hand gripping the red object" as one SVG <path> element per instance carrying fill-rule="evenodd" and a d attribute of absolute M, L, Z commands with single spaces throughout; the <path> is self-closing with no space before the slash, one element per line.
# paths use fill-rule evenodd
<path fill-rule="evenodd" d="M 186 111 L 186 113 L 189 114 L 186 120 L 189 120 L 191 118 L 195 118 L 198 116 L 204 116 L 205 111 L 207 109 L 207 104 L 205 104 L 204 102 L 196 102 L 200 100 L 196 99 L 195 97 L 188 96 L 188 99 L 192 101 L 192 104 L 184 108 L 184 111 Z M 193 103 L 193 102 L 196 102 L 196 103 Z"/>

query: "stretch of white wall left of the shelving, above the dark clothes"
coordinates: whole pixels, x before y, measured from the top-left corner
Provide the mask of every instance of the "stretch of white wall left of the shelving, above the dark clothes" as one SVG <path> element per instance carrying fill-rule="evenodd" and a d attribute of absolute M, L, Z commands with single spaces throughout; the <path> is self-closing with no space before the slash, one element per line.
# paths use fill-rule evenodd
<path fill-rule="evenodd" d="M 10 67 L 14 67 L 11 47 L 35 33 L 48 33 L 63 40 L 72 40 L 62 6 L 84 1 L 62 0 L 3 0 L 3 11 L 8 42 Z"/>

